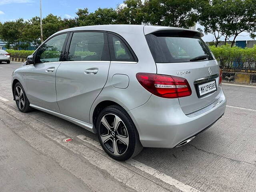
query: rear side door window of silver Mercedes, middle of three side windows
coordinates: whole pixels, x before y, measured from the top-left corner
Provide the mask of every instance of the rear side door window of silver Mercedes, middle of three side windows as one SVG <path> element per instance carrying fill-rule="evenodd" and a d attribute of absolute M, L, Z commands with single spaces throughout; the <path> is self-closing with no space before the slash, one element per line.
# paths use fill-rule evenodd
<path fill-rule="evenodd" d="M 72 36 L 68 61 L 109 61 L 108 44 L 103 32 L 76 32 Z"/>

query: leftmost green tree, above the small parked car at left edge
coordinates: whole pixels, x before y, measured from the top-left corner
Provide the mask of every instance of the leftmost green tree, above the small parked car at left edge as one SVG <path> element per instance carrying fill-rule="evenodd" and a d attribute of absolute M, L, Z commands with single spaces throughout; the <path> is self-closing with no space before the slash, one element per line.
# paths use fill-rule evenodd
<path fill-rule="evenodd" d="M 14 49 L 18 50 L 19 42 L 22 40 L 22 30 L 24 29 L 24 20 L 8 21 L 0 26 L 0 38 L 7 42 Z"/>

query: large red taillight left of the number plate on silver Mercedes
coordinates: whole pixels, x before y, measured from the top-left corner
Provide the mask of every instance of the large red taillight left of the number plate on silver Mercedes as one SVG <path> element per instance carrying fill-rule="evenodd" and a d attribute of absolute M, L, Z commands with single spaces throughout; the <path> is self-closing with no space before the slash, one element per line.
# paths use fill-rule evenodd
<path fill-rule="evenodd" d="M 179 98 L 192 94 L 185 78 L 152 73 L 137 73 L 136 78 L 146 90 L 159 97 Z"/>

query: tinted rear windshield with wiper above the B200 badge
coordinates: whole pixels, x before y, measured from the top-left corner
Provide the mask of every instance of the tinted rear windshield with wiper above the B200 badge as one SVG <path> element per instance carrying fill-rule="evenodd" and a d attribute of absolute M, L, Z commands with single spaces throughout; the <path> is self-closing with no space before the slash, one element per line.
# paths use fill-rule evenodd
<path fill-rule="evenodd" d="M 146 35 L 146 40 L 156 63 L 191 62 L 191 59 L 203 55 L 209 57 L 197 61 L 214 59 L 212 52 L 196 32 L 158 32 Z"/>

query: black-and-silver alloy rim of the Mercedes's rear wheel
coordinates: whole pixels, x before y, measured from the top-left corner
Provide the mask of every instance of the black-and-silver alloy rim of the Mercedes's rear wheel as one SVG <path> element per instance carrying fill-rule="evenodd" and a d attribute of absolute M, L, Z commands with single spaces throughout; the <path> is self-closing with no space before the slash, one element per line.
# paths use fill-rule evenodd
<path fill-rule="evenodd" d="M 106 114 L 100 120 L 100 139 L 105 148 L 115 156 L 123 155 L 129 146 L 127 128 L 115 114 Z"/>

